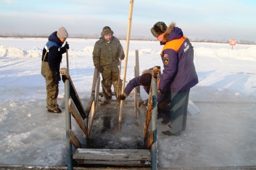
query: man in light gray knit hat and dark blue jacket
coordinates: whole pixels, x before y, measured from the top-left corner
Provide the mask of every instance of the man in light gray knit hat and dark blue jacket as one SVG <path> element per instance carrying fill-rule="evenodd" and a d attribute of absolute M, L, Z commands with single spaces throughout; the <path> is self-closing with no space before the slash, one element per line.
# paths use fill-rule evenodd
<path fill-rule="evenodd" d="M 49 112 L 61 113 L 57 104 L 59 94 L 60 78 L 60 62 L 62 54 L 66 53 L 69 45 L 61 47 L 68 38 L 68 32 L 64 27 L 60 27 L 58 31 L 53 32 L 48 42 L 44 46 L 42 54 L 41 74 L 46 82 L 46 104 Z"/>

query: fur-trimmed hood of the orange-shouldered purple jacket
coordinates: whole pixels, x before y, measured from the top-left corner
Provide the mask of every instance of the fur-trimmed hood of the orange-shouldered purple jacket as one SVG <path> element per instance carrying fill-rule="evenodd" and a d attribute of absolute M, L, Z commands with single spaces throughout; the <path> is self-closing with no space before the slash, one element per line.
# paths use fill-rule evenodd
<path fill-rule="evenodd" d="M 176 23 L 172 22 L 167 30 L 163 34 L 163 41 L 162 43 L 165 44 L 168 41 L 171 41 L 173 39 L 180 39 L 183 36 L 183 32 L 180 28 L 176 27 Z"/>

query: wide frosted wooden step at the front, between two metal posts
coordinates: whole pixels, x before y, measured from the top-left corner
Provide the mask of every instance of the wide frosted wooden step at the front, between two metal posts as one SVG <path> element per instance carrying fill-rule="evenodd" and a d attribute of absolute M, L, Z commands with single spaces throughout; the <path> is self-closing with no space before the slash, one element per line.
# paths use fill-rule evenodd
<path fill-rule="evenodd" d="M 81 149 L 73 154 L 79 166 L 150 167 L 151 153 L 146 149 Z"/>

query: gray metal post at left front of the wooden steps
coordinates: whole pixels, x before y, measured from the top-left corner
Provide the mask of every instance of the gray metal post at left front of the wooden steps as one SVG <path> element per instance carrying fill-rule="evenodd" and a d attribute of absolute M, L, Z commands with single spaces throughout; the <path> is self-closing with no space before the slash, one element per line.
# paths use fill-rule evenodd
<path fill-rule="evenodd" d="M 71 116 L 68 110 L 68 100 L 70 98 L 70 81 L 67 79 L 64 84 L 65 84 L 65 113 L 66 113 L 66 137 L 67 137 L 66 143 L 67 143 L 68 170 L 72 170 L 73 169 L 72 158 L 71 158 L 72 144 L 68 140 L 69 129 L 71 129 Z"/>

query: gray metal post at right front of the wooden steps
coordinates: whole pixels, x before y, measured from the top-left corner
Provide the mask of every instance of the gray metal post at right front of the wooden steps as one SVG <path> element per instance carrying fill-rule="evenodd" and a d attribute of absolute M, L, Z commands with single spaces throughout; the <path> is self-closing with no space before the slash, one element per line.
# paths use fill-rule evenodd
<path fill-rule="evenodd" d="M 157 169 L 157 123 L 156 123 L 156 116 L 157 116 L 157 85 L 156 79 L 152 78 L 151 80 L 151 94 L 153 99 L 153 107 L 151 111 L 151 130 L 153 131 L 153 144 L 151 146 L 151 153 L 152 153 L 152 170 Z"/>

